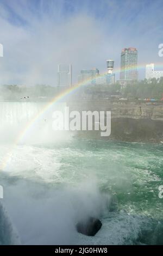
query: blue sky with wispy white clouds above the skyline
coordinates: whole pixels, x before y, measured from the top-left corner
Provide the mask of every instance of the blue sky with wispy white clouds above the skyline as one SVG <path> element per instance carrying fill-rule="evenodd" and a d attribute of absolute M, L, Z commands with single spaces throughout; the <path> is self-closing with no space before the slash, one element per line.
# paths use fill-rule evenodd
<path fill-rule="evenodd" d="M 77 82 L 81 69 L 105 72 L 108 58 L 119 68 L 124 47 L 139 64 L 162 64 L 162 10 L 161 0 L 0 0 L 0 83 L 55 85 L 58 63 L 72 63 Z"/>

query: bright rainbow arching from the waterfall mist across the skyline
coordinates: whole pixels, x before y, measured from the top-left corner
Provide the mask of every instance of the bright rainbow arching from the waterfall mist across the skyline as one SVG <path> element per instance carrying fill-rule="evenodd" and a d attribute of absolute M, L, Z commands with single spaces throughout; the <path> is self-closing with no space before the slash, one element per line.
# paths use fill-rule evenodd
<path fill-rule="evenodd" d="M 139 70 L 143 70 L 145 69 L 146 64 L 141 64 L 139 66 L 137 66 L 137 71 Z M 156 69 L 163 69 L 163 65 L 158 63 L 155 65 Z M 133 66 L 133 68 L 128 68 L 125 70 L 135 70 L 135 67 Z M 124 71 L 122 69 L 116 69 L 114 70 L 114 74 L 120 74 L 121 71 Z M 98 77 L 102 78 L 104 77 L 106 74 L 108 74 L 107 72 L 104 72 L 102 74 L 100 74 Z M 88 83 L 91 83 L 92 79 L 87 79 L 86 81 L 82 82 L 82 83 L 77 83 L 76 85 L 74 85 L 73 87 L 70 87 L 66 90 L 64 90 L 64 92 L 61 92 L 59 95 L 54 96 L 53 99 L 51 101 L 49 101 L 45 106 L 43 106 L 43 108 L 41 109 L 41 111 L 39 111 L 37 114 L 34 115 L 34 117 L 26 124 L 26 126 L 22 129 L 22 131 L 19 133 L 18 137 L 16 138 L 14 145 L 12 146 L 12 148 L 9 150 L 9 153 L 7 154 L 7 156 L 5 157 L 5 159 L 3 160 L 3 163 L 1 165 L 1 169 L 3 169 L 5 167 L 5 165 L 8 162 L 8 159 L 10 158 L 12 149 L 19 143 L 22 142 L 23 138 L 26 136 L 27 132 L 30 132 L 32 130 L 33 125 L 35 124 L 35 121 L 37 119 L 39 119 L 41 117 L 41 115 L 43 113 L 45 113 L 50 107 L 52 107 L 55 103 L 58 103 L 60 100 L 64 99 L 65 96 L 73 94 L 74 92 L 76 92 L 80 87 L 84 87 L 86 86 Z"/>

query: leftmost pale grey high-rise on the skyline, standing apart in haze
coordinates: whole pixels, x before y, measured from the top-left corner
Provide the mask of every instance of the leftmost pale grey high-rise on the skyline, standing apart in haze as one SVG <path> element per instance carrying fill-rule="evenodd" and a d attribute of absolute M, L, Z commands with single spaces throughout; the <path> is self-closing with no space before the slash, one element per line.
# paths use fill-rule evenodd
<path fill-rule="evenodd" d="M 59 64 L 58 65 L 58 86 L 71 87 L 72 86 L 72 65 Z"/>

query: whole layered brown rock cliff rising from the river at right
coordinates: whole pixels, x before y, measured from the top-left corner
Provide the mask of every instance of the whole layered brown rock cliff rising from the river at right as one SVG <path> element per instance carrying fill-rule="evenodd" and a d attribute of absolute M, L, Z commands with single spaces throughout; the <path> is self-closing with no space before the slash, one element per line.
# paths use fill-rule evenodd
<path fill-rule="evenodd" d="M 101 131 L 78 131 L 77 137 L 126 142 L 163 142 L 163 104 L 129 101 L 67 102 L 70 111 L 111 111 L 111 135 Z"/>

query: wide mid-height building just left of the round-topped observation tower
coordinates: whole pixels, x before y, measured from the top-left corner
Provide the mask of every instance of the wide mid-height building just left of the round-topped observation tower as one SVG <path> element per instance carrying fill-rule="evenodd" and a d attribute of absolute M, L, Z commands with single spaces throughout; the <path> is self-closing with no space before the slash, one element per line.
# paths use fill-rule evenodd
<path fill-rule="evenodd" d="M 94 68 L 94 69 L 83 69 L 80 71 L 80 75 L 78 77 L 78 82 L 79 83 L 87 83 L 87 84 L 96 84 L 96 78 L 99 75 L 99 70 Z"/>

